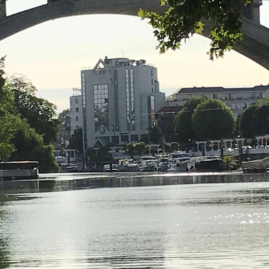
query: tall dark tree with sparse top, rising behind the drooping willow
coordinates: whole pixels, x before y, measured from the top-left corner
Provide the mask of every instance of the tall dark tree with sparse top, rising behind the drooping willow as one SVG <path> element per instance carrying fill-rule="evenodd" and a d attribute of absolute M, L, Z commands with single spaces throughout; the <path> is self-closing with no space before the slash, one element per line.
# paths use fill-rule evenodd
<path fill-rule="evenodd" d="M 21 118 L 27 119 L 30 126 L 43 135 L 45 144 L 55 141 L 59 129 L 56 106 L 46 99 L 37 98 L 36 88 L 25 77 L 13 76 L 8 84 L 15 93 L 15 105 Z"/>

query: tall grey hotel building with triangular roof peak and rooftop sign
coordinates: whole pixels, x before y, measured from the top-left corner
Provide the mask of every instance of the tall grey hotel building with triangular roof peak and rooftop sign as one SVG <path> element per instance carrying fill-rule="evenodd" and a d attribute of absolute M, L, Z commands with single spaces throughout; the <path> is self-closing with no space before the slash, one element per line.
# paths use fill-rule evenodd
<path fill-rule="evenodd" d="M 157 68 L 145 60 L 100 59 L 81 71 L 83 145 L 147 141 L 155 111 L 165 104 Z"/>

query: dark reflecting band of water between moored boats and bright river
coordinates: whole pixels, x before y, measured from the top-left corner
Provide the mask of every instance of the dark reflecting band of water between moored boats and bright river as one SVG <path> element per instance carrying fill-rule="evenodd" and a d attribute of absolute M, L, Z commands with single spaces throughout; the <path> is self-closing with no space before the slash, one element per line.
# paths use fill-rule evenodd
<path fill-rule="evenodd" d="M 104 187 L 142 187 L 180 184 L 267 182 L 269 174 L 242 172 L 208 173 L 70 173 L 41 174 L 38 180 L 10 180 L 0 182 L 5 193 L 55 192 Z"/>

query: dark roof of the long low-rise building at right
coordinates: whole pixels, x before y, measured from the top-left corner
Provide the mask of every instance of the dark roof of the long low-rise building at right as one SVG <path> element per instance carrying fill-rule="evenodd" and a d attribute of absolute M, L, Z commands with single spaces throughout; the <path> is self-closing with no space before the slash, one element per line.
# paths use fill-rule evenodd
<path fill-rule="evenodd" d="M 255 86 L 252 88 L 223 88 L 223 87 L 199 87 L 199 88 L 182 88 L 178 89 L 175 94 L 178 93 L 221 93 L 221 92 L 242 92 L 242 91 L 267 91 L 269 85 Z"/>

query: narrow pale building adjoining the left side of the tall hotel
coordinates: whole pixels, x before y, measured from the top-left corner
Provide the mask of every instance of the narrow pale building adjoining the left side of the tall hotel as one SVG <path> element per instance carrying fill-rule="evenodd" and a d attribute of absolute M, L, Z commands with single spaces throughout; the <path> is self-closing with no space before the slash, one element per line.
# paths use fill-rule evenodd
<path fill-rule="evenodd" d="M 75 130 L 83 129 L 82 95 L 77 92 L 70 97 L 70 130 L 71 135 Z"/>

